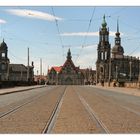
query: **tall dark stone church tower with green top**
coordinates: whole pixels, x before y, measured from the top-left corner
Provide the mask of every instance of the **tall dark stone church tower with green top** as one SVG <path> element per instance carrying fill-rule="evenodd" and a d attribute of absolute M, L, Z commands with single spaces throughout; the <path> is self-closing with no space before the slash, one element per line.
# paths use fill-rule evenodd
<path fill-rule="evenodd" d="M 110 61 L 109 28 L 103 16 L 102 27 L 99 31 L 99 44 L 97 48 L 96 82 L 108 81 Z"/>

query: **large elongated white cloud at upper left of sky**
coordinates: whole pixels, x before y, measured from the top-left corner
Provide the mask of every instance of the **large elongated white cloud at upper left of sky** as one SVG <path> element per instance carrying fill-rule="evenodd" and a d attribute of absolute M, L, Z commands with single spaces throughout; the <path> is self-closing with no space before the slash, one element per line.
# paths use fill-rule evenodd
<path fill-rule="evenodd" d="M 60 17 L 55 17 L 45 12 L 36 11 L 36 10 L 27 10 L 27 9 L 7 9 L 6 10 L 9 14 L 27 17 L 27 18 L 36 18 L 41 20 L 48 20 L 48 21 L 55 21 L 62 20 Z"/>

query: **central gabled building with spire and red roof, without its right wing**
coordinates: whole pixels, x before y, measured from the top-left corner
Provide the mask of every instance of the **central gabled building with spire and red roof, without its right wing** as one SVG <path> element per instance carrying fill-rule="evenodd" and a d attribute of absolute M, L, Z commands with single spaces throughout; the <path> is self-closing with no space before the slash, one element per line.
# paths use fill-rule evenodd
<path fill-rule="evenodd" d="M 48 71 L 48 84 L 83 85 L 84 75 L 72 61 L 71 51 L 68 50 L 67 59 L 63 66 L 52 67 Z"/>

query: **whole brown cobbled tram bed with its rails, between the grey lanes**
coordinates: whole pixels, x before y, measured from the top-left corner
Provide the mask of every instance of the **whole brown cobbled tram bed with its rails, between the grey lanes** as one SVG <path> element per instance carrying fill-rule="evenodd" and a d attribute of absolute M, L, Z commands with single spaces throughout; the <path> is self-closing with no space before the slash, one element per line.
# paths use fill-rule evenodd
<path fill-rule="evenodd" d="M 74 86 L 58 86 L 47 90 L 47 93 L 44 91 L 0 114 L 0 132 L 139 132 L 140 113 L 98 91 Z"/>

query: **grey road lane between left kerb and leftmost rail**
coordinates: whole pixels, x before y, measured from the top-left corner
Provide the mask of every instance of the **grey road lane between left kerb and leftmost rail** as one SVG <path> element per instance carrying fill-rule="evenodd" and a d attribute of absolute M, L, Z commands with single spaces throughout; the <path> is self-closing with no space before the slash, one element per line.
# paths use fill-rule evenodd
<path fill-rule="evenodd" d="M 4 112 L 15 108 L 25 102 L 30 101 L 33 98 L 36 98 L 39 95 L 46 94 L 49 90 L 53 89 L 53 86 L 44 87 L 44 88 L 35 88 L 28 91 L 15 92 L 12 94 L 4 94 L 0 96 L 0 115 Z"/>

